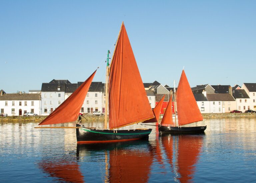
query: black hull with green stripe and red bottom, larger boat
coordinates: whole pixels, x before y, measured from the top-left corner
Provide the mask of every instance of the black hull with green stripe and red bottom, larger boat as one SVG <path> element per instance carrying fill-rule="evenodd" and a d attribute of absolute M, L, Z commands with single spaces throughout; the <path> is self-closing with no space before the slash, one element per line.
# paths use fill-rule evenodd
<path fill-rule="evenodd" d="M 147 130 L 96 130 L 76 125 L 77 143 L 107 143 L 147 138 L 152 129 Z"/>

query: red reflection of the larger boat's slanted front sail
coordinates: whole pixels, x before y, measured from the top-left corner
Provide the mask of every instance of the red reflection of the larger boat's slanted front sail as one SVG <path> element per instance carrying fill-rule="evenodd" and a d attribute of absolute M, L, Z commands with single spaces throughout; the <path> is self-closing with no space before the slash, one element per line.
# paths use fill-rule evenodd
<path fill-rule="evenodd" d="M 70 162 L 67 160 L 46 160 L 38 163 L 38 166 L 43 170 L 44 173 L 50 174 L 51 177 L 58 178 L 58 182 L 84 182 L 84 176 L 79 169 L 79 165 L 75 161 Z"/>

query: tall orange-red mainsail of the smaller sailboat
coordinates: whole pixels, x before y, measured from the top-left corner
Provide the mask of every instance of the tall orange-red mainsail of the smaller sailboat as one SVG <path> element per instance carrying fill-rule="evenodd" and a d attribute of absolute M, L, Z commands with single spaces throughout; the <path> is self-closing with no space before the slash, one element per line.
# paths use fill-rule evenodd
<path fill-rule="evenodd" d="M 180 126 L 203 120 L 184 70 L 177 89 L 177 114 Z"/>

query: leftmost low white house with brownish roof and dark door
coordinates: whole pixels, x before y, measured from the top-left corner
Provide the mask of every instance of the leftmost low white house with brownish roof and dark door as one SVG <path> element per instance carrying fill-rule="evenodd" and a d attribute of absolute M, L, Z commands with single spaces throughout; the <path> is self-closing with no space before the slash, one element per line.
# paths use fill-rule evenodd
<path fill-rule="evenodd" d="M 1 91 L 0 108 L 1 114 L 8 116 L 21 116 L 24 113 L 32 112 L 40 115 L 40 94 L 12 93 L 7 94 Z"/>

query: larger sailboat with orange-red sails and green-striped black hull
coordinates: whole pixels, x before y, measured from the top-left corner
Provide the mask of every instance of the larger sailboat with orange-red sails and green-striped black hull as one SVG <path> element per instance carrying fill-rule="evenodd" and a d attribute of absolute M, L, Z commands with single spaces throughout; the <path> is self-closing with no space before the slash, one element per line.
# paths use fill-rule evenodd
<path fill-rule="evenodd" d="M 85 127 L 79 123 L 76 124 L 74 128 L 76 128 L 77 143 L 105 143 L 136 140 L 148 137 L 152 131 L 152 129 L 117 130 L 121 127 L 154 118 L 123 23 L 110 66 L 109 53 L 108 51 L 105 87 L 108 99 L 106 99 L 104 129 Z M 39 125 L 75 121 L 95 72 Z M 109 128 L 107 128 L 108 106 Z"/>

